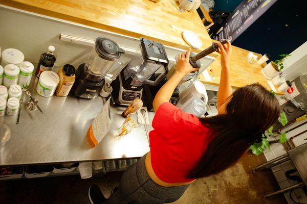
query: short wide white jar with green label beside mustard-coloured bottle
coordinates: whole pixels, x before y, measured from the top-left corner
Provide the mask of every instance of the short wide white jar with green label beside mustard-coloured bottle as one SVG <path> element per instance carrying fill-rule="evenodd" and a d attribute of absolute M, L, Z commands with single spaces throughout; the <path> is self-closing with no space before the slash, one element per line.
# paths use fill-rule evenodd
<path fill-rule="evenodd" d="M 50 97 L 54 94 L 60 79 L 54 71 L 43 71 L 39 76 L 36 91 L 39 95 Z"/>

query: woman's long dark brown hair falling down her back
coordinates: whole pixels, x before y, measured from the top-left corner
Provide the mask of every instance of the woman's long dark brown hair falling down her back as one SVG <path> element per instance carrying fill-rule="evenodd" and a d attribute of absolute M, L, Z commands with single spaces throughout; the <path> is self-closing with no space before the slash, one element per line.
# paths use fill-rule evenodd
<path fill-rule="evenodd" d="M 188 173 L 189 179 L 219 173 L 235 164 L 253 141 L 279 117 L 274 94 L 259 84 L 234 91 L 228 98 L 227 114 L 200 119 L 215 132 L 201 160 Z"/>

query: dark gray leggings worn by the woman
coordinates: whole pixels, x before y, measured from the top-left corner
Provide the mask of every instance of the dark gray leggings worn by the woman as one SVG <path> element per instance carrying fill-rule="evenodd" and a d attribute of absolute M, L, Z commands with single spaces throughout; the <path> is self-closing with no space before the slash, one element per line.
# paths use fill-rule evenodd
<path fill-rule="evenodd" d="M 145 168 L 144 155 L 123 174 L 118 190 L 104 204 L 159 204 L 178 200 L 189 185 L 162 187 L 153 182 Z"/>

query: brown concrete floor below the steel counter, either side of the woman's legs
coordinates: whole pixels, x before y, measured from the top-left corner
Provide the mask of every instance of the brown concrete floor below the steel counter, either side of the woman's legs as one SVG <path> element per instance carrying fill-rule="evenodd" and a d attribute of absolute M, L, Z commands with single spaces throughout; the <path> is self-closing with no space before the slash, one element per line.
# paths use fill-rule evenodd
<path fill-rule="evenodd" d="M 195 181 L 174 203 L 287 203 L 283 195 L 264 198 L 266 193 L 279 187 L 271 171 L 251 173 L 251 168 L 263 161 L 262 156 L 246 154 L 226 171 Z M 121 175 L 122 172 L 112 172 L 87 180 L 74 175 L 1 182 L 0 203 L 87 203 L 86 189 L 90 184 L 99 185 L 105 196 L 109 196 L 111 189 L 118 186 Z"/>

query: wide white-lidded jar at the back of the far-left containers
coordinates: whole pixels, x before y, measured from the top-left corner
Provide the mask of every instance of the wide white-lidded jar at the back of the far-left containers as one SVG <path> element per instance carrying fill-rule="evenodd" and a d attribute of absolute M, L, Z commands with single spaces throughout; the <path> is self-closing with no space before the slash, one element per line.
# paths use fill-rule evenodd
<path fill-rule="evenodd" d="M 2 52 L 1 64 L 4 67 L 8 64 L 19 65 L 24 61 L 24 59 L 24 54 L 21 53 L 18 49 L 8 48 Z"/>

